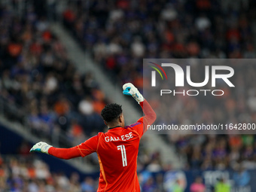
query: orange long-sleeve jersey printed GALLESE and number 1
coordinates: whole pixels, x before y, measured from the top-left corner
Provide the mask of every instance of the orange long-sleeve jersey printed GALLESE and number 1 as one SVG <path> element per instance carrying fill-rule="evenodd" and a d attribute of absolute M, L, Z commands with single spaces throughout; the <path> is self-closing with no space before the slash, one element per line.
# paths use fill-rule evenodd
<path fill-rule="evenodd" d="M 148 102 L 140 102 L 144 117 L 130 126 L 116 126 L 107 133 L 98 133 L 74 148 L 53 148 L 49 154 L 62 159 L 85 157 L 96 152 L 99 158 L 100 175 L 97 191 L 140 191 L 136 173 L 139 141 L 154 123 L 156 114 Z"/>

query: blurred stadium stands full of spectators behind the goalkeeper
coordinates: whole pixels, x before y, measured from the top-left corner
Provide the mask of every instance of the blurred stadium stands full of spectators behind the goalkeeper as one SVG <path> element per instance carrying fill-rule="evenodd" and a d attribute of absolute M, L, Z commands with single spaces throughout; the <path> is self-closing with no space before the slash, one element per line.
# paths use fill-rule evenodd
<path fill-rule="evenodd" d="M 0 5 L 1 191 L 96 191 L 95 155 L 62 161 L 29 149 L 38 141 L 68 148 L 104 131 L 99 113 L 108 102 L 123 105 L 127 123 L 137 120 L 138 105 L 118 94 L 128 81 L 142 90 L 143 58 L 256 57 L 252 0 Z M 256 122 L 256 69 L 246 70 L 236 76 L 235 96 L 225 97 L 221 109 L 206 106 L 203 120 Z M 185 114 L 177 122 L 197 108 L 195 99 L 177 102 Z M 142 191 L 256 190 L 254 135 L 155 137 L 146 135 L 140 145 Z"/>

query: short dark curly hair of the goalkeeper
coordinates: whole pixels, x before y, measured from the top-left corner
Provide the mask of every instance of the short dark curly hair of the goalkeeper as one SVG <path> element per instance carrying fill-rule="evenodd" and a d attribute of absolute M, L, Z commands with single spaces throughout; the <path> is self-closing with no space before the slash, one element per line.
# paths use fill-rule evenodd
<path fill-rule="evenodd" d="M 122 105 L 118 105 L 117 103 L 111 103 L 108 105 L 105 105 L 105 108 L 102 109 L 102 118 L 106 122 L 112 122 L 116 120 L 120 114 L 122 114 Z"/>

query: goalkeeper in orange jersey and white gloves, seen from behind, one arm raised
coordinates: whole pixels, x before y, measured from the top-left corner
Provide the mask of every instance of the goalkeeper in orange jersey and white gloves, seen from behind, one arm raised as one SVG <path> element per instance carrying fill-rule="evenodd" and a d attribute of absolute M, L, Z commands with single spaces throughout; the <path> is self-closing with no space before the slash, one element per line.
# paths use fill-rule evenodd
<path fill-rule="evenodd" d="M 145 116 L 136 123 L 124 126 L 121 105 L 108 104 L 101 112 L 108 126 L 107 133 L 98 133 L 73 148 L 53 148 L 45 142 L 38 142 L 30 152 L 50 154 L 61 159 L 85 157 L 96 152 L 100 166 L 97 191 L 140 191 L 136 173 L 139 141 L 147 126 L 156 120 L 156 114 L 133 84 L 124 84 L 123 94 L 133 96 L 142 107 Z"/>

